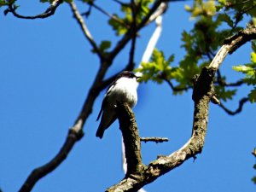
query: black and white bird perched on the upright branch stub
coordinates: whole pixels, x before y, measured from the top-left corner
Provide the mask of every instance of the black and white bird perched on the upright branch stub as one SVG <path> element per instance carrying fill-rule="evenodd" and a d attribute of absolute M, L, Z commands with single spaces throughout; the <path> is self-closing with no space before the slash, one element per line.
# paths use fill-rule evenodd
<path fill-rule="evenodd" d="M 137 77 L 134 73 L 124 71 L 109 85 L 102 101 L 102 108 L 96 120 L 102 116 L 101 123 L 96 131 L 96 137 L 103 137 L 104 131 L 117 119 L 115 112 L 116 102 L 126 102 L 133 108 L 137 103 Z"/>

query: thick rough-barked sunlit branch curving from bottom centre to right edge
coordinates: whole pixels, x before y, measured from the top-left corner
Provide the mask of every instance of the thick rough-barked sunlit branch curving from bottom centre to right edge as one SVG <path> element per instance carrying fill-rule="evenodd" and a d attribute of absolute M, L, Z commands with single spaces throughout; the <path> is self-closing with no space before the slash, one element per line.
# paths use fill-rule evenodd
<path fill-rule="evenodd" d="M 174 153 L 168 156 L 160 156 L 157 160 L 149 163 L 148 166 L 141 166 L 140 172 L 132 172 L 131 174 L 126 174 L 123 180 L 107 189 L 107 192 L 135 192 L 138 189 L 141 189 L 144 185 L 153 182 L 156 178 L 160 177 L 166 172 L 170 172 L 177 166 L 181 166 L 185 160 L 188 160 L 189 158 L 195 158 L 196 154 L 201 153 L 207 133 L 209 102 L 211 101 L 212 96 L 214 96 L 212 80 L 215 76 L 215 73 L 228 53 L 234 52 L 242 44 L 245 44 L 247 41 L 255 38 L 256 30 L 255 27 L 251 26 L 239 34 L 240 35 L 236 36 L 236 38 L 233 38 L 230 42 L 226 42 L 219 49 L 218 54 L 215 55 L 209 67 L 204 67 L 201 71 L 201 74 L 196 75 L 194 78 L 194 90 L 192 96 L 195 102 L 194 121 L 192 136 L 190 137 L 189 141 Z M 127 119 L 131 119 L 129 125 L 131 125 L 131 122 L 135 122 L 134 116 L 131 115 L 129 110 L 126 110 L 125 113 L 122 113 L 122 115 L 126 115 Z M 122 115 L 120 115 L 119 118 L 121 118 Z M 119 119 L 119 122 L 122 123 L 122 120 Z M 124 125 L 124 127 L 126 126 Z M 131 132 L 131 135 L 132 134 L 134 134 L 134 132 Z M 131 145 L 138 143 L 134 142 L 137 141 L 137 139 L 132 141 L 133 142 Z M 125 144 L 125 148 L 133 147 L 126 146 L 128 144 L 129 143 Z"/>

